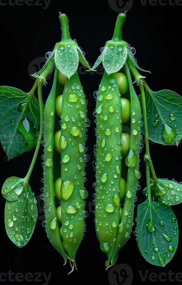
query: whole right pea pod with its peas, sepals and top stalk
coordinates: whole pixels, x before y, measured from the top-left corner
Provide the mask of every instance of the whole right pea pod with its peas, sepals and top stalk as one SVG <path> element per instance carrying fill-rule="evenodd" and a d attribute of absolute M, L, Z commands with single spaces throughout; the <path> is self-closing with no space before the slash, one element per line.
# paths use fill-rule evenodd
<path fill-rule="evenodd" d="M 95 171 L 95 228 L 106 266 L 116 262 L 118 251 L 131 234 L 138 179 L 141 110 L 127 58 L 127 42 L 121 38 L 125 14 L 117 19 L 113 39 L 108 41 L 93 68 L 101 62 L 104 75 L 97 93 Z M 124 209 L 123 209 L 124 206 Z"/>

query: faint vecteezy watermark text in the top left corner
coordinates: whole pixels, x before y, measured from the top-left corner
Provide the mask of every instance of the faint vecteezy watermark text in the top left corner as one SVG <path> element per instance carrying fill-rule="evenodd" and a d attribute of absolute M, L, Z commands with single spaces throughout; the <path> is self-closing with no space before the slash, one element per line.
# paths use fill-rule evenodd
<path fill-rule="evenodd" d="M 43 6 L 46 10 L 50 4 L 51 0 L 0 0 L 0 6 Z"/>

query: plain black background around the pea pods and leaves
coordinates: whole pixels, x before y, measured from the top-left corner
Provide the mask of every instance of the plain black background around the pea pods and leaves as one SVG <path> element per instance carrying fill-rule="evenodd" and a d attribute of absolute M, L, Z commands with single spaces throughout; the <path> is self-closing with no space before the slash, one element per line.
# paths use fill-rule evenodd
<path fill-rule="evenodd" d="M 34 1 L 35 4 L 36 1 Z M 161 89 L 174 90 L 181 94 L 181 13 L 182 6 L 170 5 L 170 1 L 161 1 L 167 3 L 162 6 L 157 1 L 156 6 L 152 6 L 149 1 L 142 5 L 143 1 L 134 1 L 132 8 L 127 13 L 127 18 L 123 28 L 123 38 L 136 49 L 136 58 L 140 67 L 150 70 L 152 75 L 147 74 L 147 83 L 154 91 Z M 137 3 L 136 3 L 137 2 Z M 145 1 L 144 1 L 145 2 Z M 7 5 L 2 6 L 2 3 Z M 54 48 L 56 42 L 60 41 L 61 31 L 58 12 L 66 13 L 69 17 L 70 33 L 73 39 L 77 39 L 79 46 L 86 53 L 86 58 L 93 65 L 100 54 L 100 48 L 104 46 L 107 40 L 110 40 L 113 34 L 117 13 L 113 11 L 108 1 L 55 1 L 51 0 L 47 9 L 41 0 L 42 6 L 12 6 L 13 0 L 2 0 L 0 3 L 0 33 L 1 33 L 1 85 L 10 85 L 28 92 L 32 85 L 33 79 L 29 75 L 37 71 L 33 64 L 40 68 L 42 59 L 47 51 Z M 116 6 L 116 0 L 112 1 Z M 154 2 L 153 2 L 154 3 Z M 171 3 L 175 3 L 172 1 Z M 176 1 L 177 3 L 177 1 Z M 125 9 L 124 9 L 125 10 Z M 32 61 L 34 62 L 32 63 Z M 29 68 L 28 68 L 29 67 Z M 95 144 L 93 123 L 93 111 L 95 108 L 95 99 L 93 92 L 98 90 L 102 74 L 85 74 L 82 70 L 80 79 L 88 100 L 88 116 L 91 120 L 89 127 L 89 139 L 87 140 L 88 154 L 90 161 L 87 164 L 87 182 L 86 187 L 89 192 L 88 201 L 93 200 L 94 170 L 92 168 L 93 147 Z M 82 74 L 84 73 L 84 74 Z M 47 86 L 43 87 L 44 103 L 51 88 L 53 76 L 48 80 Z M 151 156 L 158 177 L 169 179 L 175 178 L 181 181 L 181 160 L 182 145 L 179 147 L 162 146 L 150 143 Z M 1 181 L 0 185 L 10 176 L 24 177 L 29 168 L 33 152 L 25 153 L 13 160 L 7 161 L 7 157 L 0 149 L 1 156 Z M 143 151 L 144 152 L 144 151 Z M 71 275 L 67 276 L 70 270 L 69 263 L 63 267 L 63 259 L 59 253 L 52 247 L 46 237 L 42 227 L 43 214 L 42 202 L 40 202 L 40 188 L 42 187 L 42 167 L 41 154 L 39 152 L 35 168 L 30 178 L 30 185 L 35 192 L 39 204 L 39 217 L 35 227 L 34 234 L 28 245 L 19 249 L 8 239 L 4 229 L 4 205 L 5 200 L 0 199 L 1 213 L 1 272 L 8 273 L 12 270 L 15 274 L 18 272 L 24 275 L 31 272 L 51 272 L 50 282 L 61 284 L 61 282 L 74 282 L 79 284 L 104 283 L 110 284 L 108 272 L 105 271 L 106 254 L 100 250 L 98 240 L 95 235 L 94 215 L 89 213 L 86 219 L 87 231 L 85 237 L 77 252 L 77 267 Z M 143 153 L 141 155 L 143 161 Z M 144 163 L 141 162 L 142 178 L 140 179 L 141 189 L 145 187 L 145 169 Z M 142 190 L 137 193 L 138 203 L 144 201 Z M 92 207 L 93 208 L 93 207 Z M 137 208 L 137 207 L 136 207 Z M 135 211 L 136 211 L 135 208 Z M 179 246 L 173 260 L 165 268 L 154 267 L 147 263 L 141 256 L 136 237 L 133 232 L 127 244 L 120 250 L 117 264 L 125 263 L 131 266 L 133 270 L 134 282 L 141 282 L 138 270 L 142 270 L 143 275 L 146 270 L 149 273 L 155 272 L 157 276 L 160 272 L 173 273 L 182 272 L 181 267 L 181 205 L 173 208 L 176 218 L 179 222 Z M 88 211 L 88 208 L 87 208 Z M 92 209 L 93 212 L 93 209 Z M 135 213 L 136 215 L 136 213 Z M 133 231 L 135 229 L 133 227 Z M 148 273 L 148 274 L 149 274 Z M 174 275 L 172 275 L 174 278 Z M 2 277 L 4 278 L 4 276 Z M 164 278 L 164 276 L 163 276 Z M 41 284 L 44 283 L 44 278 Z M 63 281 L 65 279 L 65 281 Z M 112 280 L 112 282 L 111 282 Z M 169 280 L 169 277 L 167 277 Z M 114 282 L 114 275 L 110 279 L 111 285 Z M 128 283 L 127 283 L 128 282 Z M 147 275 L 147 282 L 149 276 Z M 168 282 L 168 281 L 167 281 Z M 11 284 L 8 280 L 5 283 Z M 15 281 L 14 284 L 19 282 Z M 30 283 L 30 282 L 29 282 Z M 27 284 L 29 284 L 27 282 Z M 150 283 L 150 282 L 149 282 Z M 152 282 L 153 283 L 153 282 Z M 158 280 L 154 282 L 160 284 Z M 173 284 L 178 284 L 174 281 Z M 26 284 L 26 281 L 23 281 Z M 125 284 L 131 284 L 129 280 Z"/>

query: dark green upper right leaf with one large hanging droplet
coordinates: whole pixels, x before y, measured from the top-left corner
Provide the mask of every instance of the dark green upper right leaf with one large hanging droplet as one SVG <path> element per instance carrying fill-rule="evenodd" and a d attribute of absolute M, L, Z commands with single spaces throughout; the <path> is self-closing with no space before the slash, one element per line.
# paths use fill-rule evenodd
<path fill-rule="evenodd" d="M 145 84 L 144 84 L 145 86 Z M 182 137 L 182 98 L 170 90 L 145 92 L 149 139 L 162 145 L 179 145 Z M 141 95 L 139 95 L 140 105 Z M 142 128 L 144 133 L 144 129 Z"/>

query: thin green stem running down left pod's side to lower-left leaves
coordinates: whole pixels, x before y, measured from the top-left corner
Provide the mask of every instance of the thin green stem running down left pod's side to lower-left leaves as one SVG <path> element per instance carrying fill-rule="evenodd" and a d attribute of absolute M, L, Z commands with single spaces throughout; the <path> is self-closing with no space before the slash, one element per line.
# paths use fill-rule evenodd
<path fill-rule="evenodd" d="M 42 128 L 43 128 L 43 120 L 44 120 L 44 115 L 43 115 L 43 102 L 42 102 L 42 85 L 44 83 L 44 80 L 42 79 L 39 83 L 38 83 L 38 98 L 39 98 L 39 107 L 40 107 L 40 132 L 39 132 L 39 137 L 38 137 L 38 141 L 37 141 L 37 146 L 35 149 L 35 153 L 32 159 L 32 163 L 30 164 L 30 168 L 26 174 L 25 180 L 28 181 L 30 179 L 30 175 L 32 173 L 33 167 L 35 165 L 35 161 L 37 159 L 37 155 L 39 152 L 39 148 L 41 145 L 41 141 L 42 141 Z"/>

